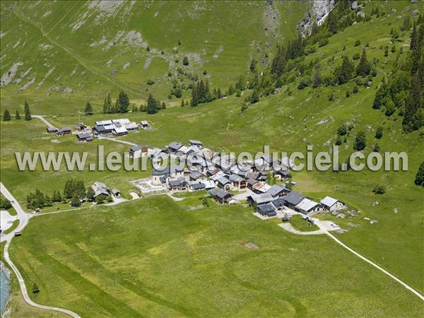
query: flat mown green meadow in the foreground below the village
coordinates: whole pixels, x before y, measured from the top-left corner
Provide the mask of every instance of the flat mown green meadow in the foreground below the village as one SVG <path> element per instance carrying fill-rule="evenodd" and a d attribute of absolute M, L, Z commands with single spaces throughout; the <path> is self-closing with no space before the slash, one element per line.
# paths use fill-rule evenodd
<path fill-rule="evenodd" d="M 10 253 L 28 287 L 39 285 L 36 302 L 83 317 L 422 312 L 418 298 L 329 238 L 276 223 L 242 206 L 190 211 L 156 196 L 34 218 Z"/>

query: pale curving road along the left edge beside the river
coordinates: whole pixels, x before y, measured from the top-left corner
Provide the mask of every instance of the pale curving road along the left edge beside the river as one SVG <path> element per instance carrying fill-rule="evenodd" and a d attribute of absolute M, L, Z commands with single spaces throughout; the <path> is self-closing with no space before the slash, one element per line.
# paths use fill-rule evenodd
<path fill-rule="evenodd" d="M 31 305 L 33 307 L 41 308 L 41 309 L 44 309 L 44 310 L 55 310 L 57 312 L 63 312 L 64 314 L 69 314 L 71 317 L 74 317 L 74 318 L 81 318 L 80 316 L 78 316 L 78 314 L 76 314 L 75 312 L 72 312 L 71 310 L 66 310 L 66 309 L 59 308 L 59 307 L 50 307 L 50 306 L 45 306 L 45 305 L 38 305 L 37 303 L 33 302 L 33 300 L 30 299 L 30 296 L 28 296 L 28 290 L 25 286 L 25 282 L 23 281 L 23 277 L 22 277 L 22 275 L 20 275 L 18 268 L 15 266 L 15 264 L 13 264 L 13 261 L 11 261 L 11 259 L 9 257 L 8 247 L 11 244 L 11 241 L 14 237 L 14 232 L 21 231 L 21 230 L 23 230 L 23 228 L 25 228 L 25 226 L 28 224 L 28 220 L 30 219 L 30 215 L 23 211 L 23 209 L 18 204 L 18 201 L 16 201 L 16 199 L 12 196 L 12 194 L 10 192 L 8 192 L 8 189 L 6 189 L 6 187 L 4 187 L 3 183 L 1 183 L 1 182 L 0 182 L 0 190 L 1 190 L 1 194 L 3 194 L 6 197 L 6 199 L 11 201 L 13 208 L 15 208 L 16 212 L 18 213 L 18 220 L 19 220 L 18 228 L 16 228 L 16 230 L 14 230 L 13 232 L 11 232 L 7 235 L 2 235 L 1 236 L 1 242 L 6 241 L 6 245 L 4 246 L 4 261 L 6 261 L 8 266 L 15 273 L 16 278 L 18 278 L 18 283 L 19 283 L 19 286 L 20 286 L 20 291 L 22 292 L 22 295 L 23 295 L 23 299 L 25 300 L 25 302 L 27 302 L 29 305 Z"/>

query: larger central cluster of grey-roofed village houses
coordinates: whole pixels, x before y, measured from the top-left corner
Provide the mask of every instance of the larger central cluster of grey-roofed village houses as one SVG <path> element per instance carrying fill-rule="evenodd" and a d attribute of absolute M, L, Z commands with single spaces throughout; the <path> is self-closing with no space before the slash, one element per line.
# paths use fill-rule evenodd
<path fill-rule="evenodd" d="M 210 196 L 220 204 L 247 201 L 259 218 L 288 217 L 293 213 L 309 216 L 324 210 L 339 215 L 346 208 L 343 202 L 330 196 L 318 203 L 284 184 L 268 184 L 266 181 L 270 175 L 272 179 L 285 181 L 290 186 L 294 184 L 288 182 L 290 166 L 293 165 L 288 158 L 273 163 L 271 156 L 264 156 L 243 162 L 241 169 L 240 163 L 235 163 L 231 155 L 220 155 L 204 148 L 201 141 L 196 140 L 190 140 L 188 146 L 173 141 L 163 149 L 134 146 L 129 153 L 133 158 L 153 158 L 163 153 L 186 163 L 167 166 L 163 170 L 153 169 L 151 177 L 132 182 L 141 192 L 208 190 Z"/>

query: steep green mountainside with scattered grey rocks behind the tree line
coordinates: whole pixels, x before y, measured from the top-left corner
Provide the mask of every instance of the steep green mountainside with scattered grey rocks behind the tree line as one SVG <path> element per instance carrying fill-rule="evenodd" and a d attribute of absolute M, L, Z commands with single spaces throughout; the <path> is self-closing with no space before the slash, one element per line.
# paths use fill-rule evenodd
<path fill-rule="evenodd" d="M 252 57 L 269 63 L 276 43 L 295 35 L 309 6 L 293 1 L 272 6 L 266 1 L 2 1 L 1 76 L 12 68 L 14 80 L 1 90 L 2 107 L 28 100 L 36 112 L 69 112 L 86 100 L 96 105 L 109 90 L 126 90 L 134 99 L 152 92 L 164 100 L 172 81 L 187 87 L 191 74 L 205 70 L 211 86 L 226 88 Z M 189 66 L 182 65 L 185 56 Z M 155 84 L 148 86 L 148 80 Z M 66 96 L 72 98 L 71 108 L 63 110 Z"/>

